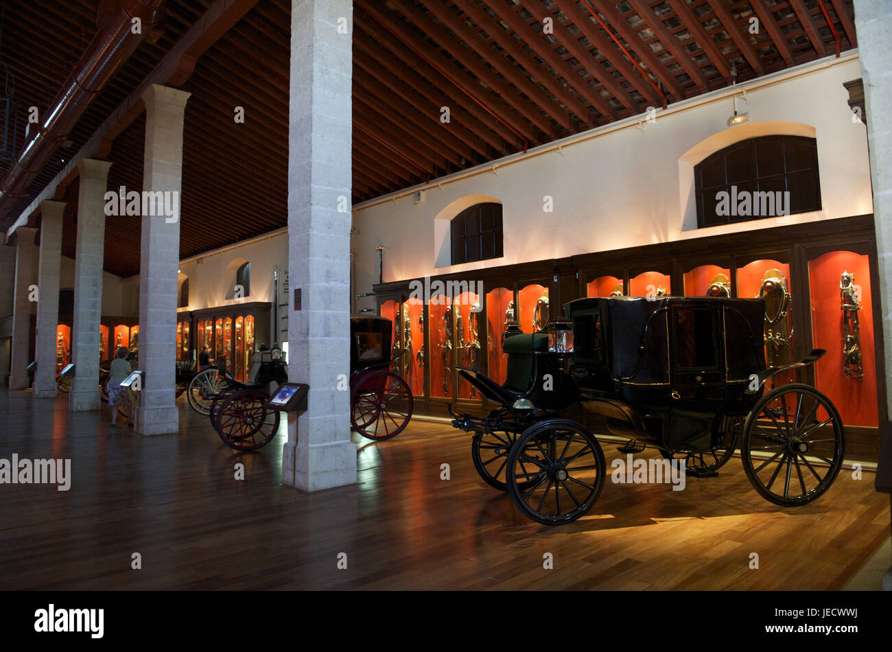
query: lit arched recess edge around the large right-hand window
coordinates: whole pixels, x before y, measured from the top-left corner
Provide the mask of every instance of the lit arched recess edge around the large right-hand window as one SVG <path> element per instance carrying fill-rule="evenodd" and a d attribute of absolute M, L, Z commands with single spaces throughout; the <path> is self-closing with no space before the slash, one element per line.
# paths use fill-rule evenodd
<path fill-rule="evenodd" d="M 681 230 L 697 229 L 697 197 L 694 191 L 694 166 L 707 156 L 724 149 L 730 144 L 758 136 L 807 136 L 814 138 L 816 131 L 811 125 L 801 122 L 770 120 L 767 122 L 746 122 L 709 136 L 695 144 L 678 160 L 679 205 L 681 206 Z M 820 146 L 820 144 L 819 144 Z M 775 221 L 785 218 L 776 218 Z M 763 225 L 765 226 L 765 225 Z M 712 233 L 712 231 L 710 231 Z"/>

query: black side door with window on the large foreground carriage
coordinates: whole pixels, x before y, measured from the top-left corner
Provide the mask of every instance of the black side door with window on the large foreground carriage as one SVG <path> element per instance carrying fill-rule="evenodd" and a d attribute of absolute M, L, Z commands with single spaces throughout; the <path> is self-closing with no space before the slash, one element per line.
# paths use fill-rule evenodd
<path fill-rule="evenodd" d="M 704 385 L 722 384 L 721 312 L 714 306 L 676 304 L 672 309 L 673 390 L 681 398 L 706 398 Z M 729 343 L 730 344 L 730 343 Z M 710 396 L 714 396 L 710 392 Z"/>

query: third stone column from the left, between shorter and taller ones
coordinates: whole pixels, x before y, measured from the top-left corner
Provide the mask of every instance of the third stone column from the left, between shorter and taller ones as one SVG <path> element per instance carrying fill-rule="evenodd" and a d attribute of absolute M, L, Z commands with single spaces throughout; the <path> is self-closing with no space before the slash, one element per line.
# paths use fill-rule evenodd
<path fill-rule="evenodd" d="M 111 162 L 78 162 L 78 243 L 74 258 L 74 318 L 71 323 L 71 362 L 74 377 L 68 409 L 100 409 L 99 326 L 103 312 L 105 250 L 105 190 Z M 123 219 L 123 218 L 121 218 Z"/>

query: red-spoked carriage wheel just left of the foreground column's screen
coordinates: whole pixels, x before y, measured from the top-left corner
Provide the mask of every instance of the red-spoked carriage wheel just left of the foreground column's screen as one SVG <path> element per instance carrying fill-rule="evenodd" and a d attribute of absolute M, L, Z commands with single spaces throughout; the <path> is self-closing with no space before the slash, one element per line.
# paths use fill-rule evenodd
<path fill-rule="evenodd" d="M 263 392 L 243 390 L 219 404 L 217 433 L 229 448 L 257 450 L 276 436 L 279 413 L 277 409 L 263 407 L 268 399 Z"/>

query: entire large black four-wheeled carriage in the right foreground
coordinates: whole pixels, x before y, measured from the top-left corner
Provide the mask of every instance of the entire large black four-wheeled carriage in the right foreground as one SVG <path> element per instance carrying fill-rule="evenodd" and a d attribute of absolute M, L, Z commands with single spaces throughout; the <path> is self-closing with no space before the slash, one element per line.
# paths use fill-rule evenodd
<path fill-rule="evenodd" d="M 832 402 L 806 384 L 766 387 L 825 351 L 766 367 L 764 300 L 588 298 L 564 308 L 548 333 L 505 340 L 505 384 L 459 367 L 500 407 L 453 413 L 452 425 L 474 433 L 477 472 L 525 516 L 568 523 L 598 499 L 605 458 L 580 410 L 626 441 L 621 452 L 656 448 L 687 475 L 718 475 L 739 449 L 750 483 L 778 505 L 804 505 L 836 479 L 845 442 Z"/>

